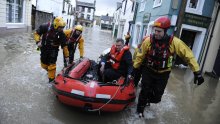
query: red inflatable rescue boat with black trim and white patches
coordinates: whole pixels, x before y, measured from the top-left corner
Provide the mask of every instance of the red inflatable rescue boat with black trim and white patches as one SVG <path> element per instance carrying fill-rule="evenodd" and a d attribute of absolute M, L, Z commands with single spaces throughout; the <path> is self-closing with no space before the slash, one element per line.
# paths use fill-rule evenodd
<path fill-rule="evenodd" d="M 113 82 L 98 82 L 97 69 L 97 63 L 84 58 L 63 70 L 53 83 L 58 100 L 87 111 L 109 112 L 121 111 L 134 102 L 132 80 L 124 83 L 121 77 Z"/>

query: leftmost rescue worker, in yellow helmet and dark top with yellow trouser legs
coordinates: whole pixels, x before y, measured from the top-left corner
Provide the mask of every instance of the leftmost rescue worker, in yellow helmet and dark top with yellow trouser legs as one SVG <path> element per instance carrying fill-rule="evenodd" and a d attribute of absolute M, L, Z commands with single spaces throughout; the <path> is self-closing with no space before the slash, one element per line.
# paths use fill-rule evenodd
<path fill-rule="evenodd" d="M 63 32 L 65 25 L 66 23 L 62 17 L 56 17 L 52 24 L 42 24 L 34 33 L 36 44 L 41 50 L 41 67 L 48 72 L 49 82 L 55 78 L 56 61 L 60 45 L 63 49 L 65 59 L 69 60 L 69 52 Z"/>

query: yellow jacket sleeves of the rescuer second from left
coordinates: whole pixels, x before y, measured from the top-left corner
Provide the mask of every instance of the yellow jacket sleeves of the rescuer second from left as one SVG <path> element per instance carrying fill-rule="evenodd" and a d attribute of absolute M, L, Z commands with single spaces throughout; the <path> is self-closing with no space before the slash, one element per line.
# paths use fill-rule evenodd
<path fill-rule="evenodd" d="M 68 41 L 71 37 L 72 29 L 64 30 L 64 33 Z M 82 36 L 80 36 L 80 38 L 78 39 L 78 43 L 79 43 L 78 49 L 79 49 L 80 57 L 83 57 L 84 56 L 84 38 Z"/>

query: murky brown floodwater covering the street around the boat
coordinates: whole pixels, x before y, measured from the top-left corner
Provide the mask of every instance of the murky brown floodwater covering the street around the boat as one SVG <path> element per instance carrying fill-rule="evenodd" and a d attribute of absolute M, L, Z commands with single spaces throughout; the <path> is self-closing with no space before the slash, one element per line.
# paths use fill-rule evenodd
<path fill-rule="evenodd" d="M 111 32 L 86 28 L 85 57 L 97 60 L 114 39 Z M 62 50 L 57 73 L 62 69 Z M 117 113 L 89 113 L 56 100 L 31 34 L 0 38 L 0 124 L 219 124 L 220 81 L 205 76 L 195 86 L 189 69 L 174 68 L 162 102 L 135 114 L 136 102 Z M 77 49 L 76 58 L 79 57 Z M 139 90 L 138 90 L 139 92 Z"/>

